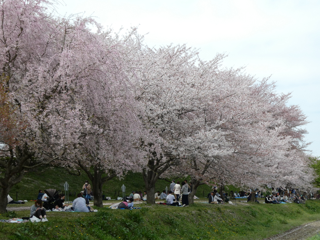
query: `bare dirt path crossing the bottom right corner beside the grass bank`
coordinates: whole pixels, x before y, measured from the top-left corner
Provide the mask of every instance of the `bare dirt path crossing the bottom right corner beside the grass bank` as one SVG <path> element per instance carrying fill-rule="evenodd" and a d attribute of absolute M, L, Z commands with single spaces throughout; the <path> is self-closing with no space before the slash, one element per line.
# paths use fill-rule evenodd
<path fill-rule="evenodd" d="M 284 233 L 279 233 L 275 236 L 265 238 L 263 240 L 305 240 L 315 236 L 320 232 L 320 220 L 302 224 L 292 228 Z"/>

